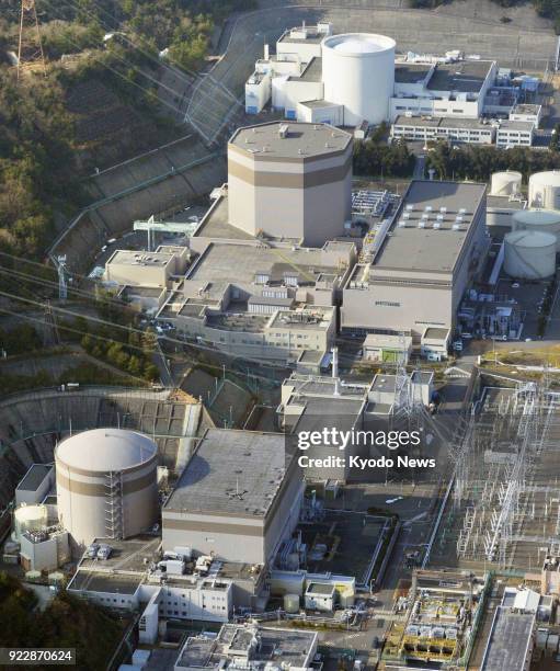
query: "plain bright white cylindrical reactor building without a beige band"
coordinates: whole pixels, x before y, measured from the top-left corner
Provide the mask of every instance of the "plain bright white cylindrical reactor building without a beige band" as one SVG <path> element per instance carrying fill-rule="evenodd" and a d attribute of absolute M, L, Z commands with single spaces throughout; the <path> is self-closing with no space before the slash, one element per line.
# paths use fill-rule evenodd
<path fill-rule="evenodd" d="M 395 39 L 374 33 L 343 33 L 322 42 L 324 99 L 344 105 L 344 125 L 389 118 L 395 88 Z"/>

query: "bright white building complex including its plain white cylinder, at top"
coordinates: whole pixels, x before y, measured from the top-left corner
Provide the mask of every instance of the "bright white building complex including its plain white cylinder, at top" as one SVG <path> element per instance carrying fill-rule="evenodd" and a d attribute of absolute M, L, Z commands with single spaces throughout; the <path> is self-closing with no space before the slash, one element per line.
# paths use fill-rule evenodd
<path fill-rule="evenodd" d="M 364 124 L 390 122 L 396 138 L 533 144 L 541 107 L 518 104 L 525 80 L 516 83 L 495 61 L 460 52 L 396 60 L 396 46 L 385 35 L 333 35 L 329 23 L 288 30 L 276 55 L 266 45 L 256 61 L 245 112 L 258 114 L 270 102 L 288 120 L 354 127 L 355 137 L 364 136 Z"/>

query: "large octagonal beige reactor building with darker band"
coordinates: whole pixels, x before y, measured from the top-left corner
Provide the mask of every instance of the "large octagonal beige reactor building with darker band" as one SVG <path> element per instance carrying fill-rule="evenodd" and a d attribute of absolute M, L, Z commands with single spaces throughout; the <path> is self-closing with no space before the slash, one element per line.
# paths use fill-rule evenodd
<path fill-rule="evenodd" d="M 229 223 L 321 247 L 352 211 L 352 136 L 327 124 L 239 128 L 228 145 Z"/>

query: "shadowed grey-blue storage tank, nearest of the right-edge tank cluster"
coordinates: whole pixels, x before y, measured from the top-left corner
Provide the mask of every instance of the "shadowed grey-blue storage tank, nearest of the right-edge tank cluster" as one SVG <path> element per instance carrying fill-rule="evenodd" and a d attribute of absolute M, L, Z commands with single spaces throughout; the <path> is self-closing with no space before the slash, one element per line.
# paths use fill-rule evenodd
<path fill-rule="evenodd" d="M 556 236 L 515 230 L 504 238 L 504 270 L 517 280 L 544 280 L 556 271 Z"/>

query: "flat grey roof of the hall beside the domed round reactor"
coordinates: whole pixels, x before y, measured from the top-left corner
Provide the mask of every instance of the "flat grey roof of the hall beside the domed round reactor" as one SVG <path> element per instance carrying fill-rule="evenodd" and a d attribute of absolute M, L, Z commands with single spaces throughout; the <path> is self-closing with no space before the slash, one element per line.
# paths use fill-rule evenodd
<path fill-rule="evenodd" d="M 284 435 L 209 429 L 163 512 L 264 518 L 286 473 Z"/>

